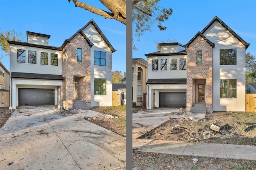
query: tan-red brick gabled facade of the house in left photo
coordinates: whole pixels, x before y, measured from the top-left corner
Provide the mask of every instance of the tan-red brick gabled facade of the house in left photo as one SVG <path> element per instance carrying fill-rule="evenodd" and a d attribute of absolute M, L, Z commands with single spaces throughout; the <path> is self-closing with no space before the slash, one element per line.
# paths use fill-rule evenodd
<path fill-rule="evenodd" d="M 77 61 L 77 49 L 82 49 L 82 62 Z M 88 106 L 91 105 L 90 86 L 90 45 L 78 33 L 64 47 L 66 56 L 62 57 L 62 100 L 66 109 L 73 108 L 74 104 L 74 83 L 77 82 L 78 100 L 83 100 Z"/>

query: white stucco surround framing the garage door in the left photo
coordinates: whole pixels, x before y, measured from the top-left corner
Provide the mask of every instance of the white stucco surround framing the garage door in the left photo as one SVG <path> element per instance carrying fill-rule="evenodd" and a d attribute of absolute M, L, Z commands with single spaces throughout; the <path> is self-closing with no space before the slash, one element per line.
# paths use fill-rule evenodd
<path fill-rule="evenodd" d="M 57 86 L 62 85 L 62 80 L 39 80 L 39 79 L 24 79 L 24 78 L 12 78 L 12 89 L 10 91 L 12 109 L 16 109 L 19 106 L 18 102 L 18 89 L 19 88 L 52 88 L 54 89 L 54 104 L 57 105 Z"/>

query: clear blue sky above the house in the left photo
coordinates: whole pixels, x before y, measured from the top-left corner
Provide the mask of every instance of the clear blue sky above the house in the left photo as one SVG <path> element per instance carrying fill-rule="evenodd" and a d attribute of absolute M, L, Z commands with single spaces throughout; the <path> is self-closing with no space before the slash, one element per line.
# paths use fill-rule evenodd
<path fill-rule="evenodd" d="M 86 0 L 92 6 L 107 10 L 98 0 Z M 91 19 L 97 23 L 108 41 L 117 50 L 112 54 L 112 70 L 126 72 L 126 25 L 112 19 L 104 19 L 68 0 L 0 0 L 1 31 L 22 33 L 27 42 L 26 31 L 51 35 L 49 45 L 60 47 Z M 4 53 L 0 50 L 0 53 Z M 2 63 L 9 70 L 9 57 Z"/>

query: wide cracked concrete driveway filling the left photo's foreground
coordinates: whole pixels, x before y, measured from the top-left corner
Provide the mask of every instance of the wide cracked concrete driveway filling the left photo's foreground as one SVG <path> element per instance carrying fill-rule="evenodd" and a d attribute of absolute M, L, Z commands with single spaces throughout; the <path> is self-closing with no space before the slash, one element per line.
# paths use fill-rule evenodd
<path fill-rule="evenodd" d="M 14 111 L 0 129 L 0 169 L 111 170 L 126 165 L 126 138 L 52 107 Z"/>

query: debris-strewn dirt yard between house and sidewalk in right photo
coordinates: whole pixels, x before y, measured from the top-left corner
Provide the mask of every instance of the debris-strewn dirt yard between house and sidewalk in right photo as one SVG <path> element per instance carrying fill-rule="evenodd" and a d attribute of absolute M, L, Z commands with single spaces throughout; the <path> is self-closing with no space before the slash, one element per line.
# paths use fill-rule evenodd
<path fill-rule="evenodd" d="M 210 129 L 220 125 L 220 132 Z M 202 120 L 170 119 L 152 129 L 142 139 L 186 141 L 192 143 L 226 143 L 256 145 L 256 113 L 217 112 L 206 114 Z"/>

